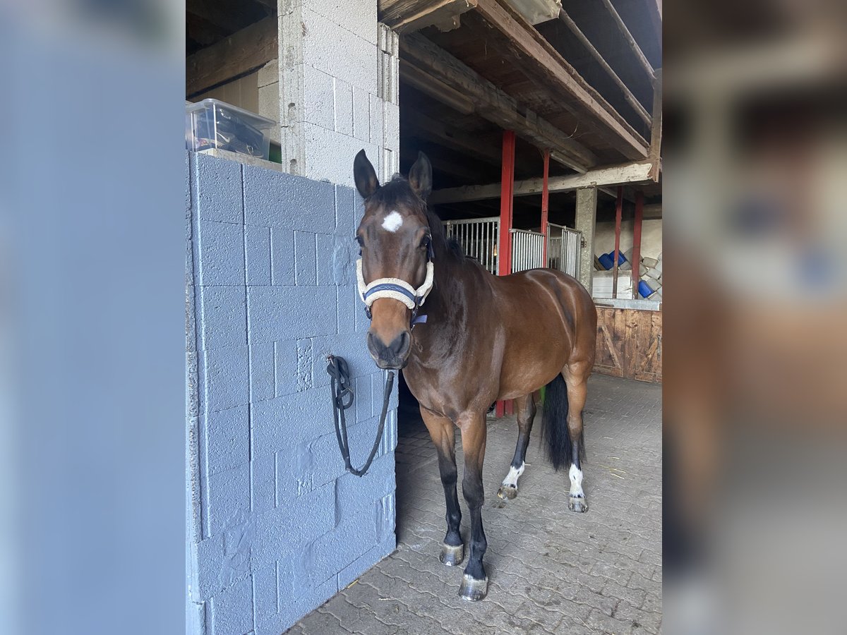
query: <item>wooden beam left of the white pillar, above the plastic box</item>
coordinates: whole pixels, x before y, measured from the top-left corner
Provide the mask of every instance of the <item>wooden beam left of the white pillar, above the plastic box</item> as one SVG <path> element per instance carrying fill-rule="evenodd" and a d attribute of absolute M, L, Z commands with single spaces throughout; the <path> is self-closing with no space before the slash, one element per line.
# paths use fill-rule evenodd
<path fill-rule="evenodd" d="M 193 97 L 279 57 L 276 15 L 185 58 L 185 96 Z"/>

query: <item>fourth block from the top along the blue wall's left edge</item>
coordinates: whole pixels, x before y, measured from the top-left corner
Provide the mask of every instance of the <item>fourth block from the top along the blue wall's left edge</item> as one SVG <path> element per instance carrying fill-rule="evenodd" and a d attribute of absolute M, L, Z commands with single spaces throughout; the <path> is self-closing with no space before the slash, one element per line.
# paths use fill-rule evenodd
<path fill-rule="evenodd" d="M 204 406 L 207 412 L 244 406 L 248 402 L 247 347 L 205 351 L 202 363 Z"/>

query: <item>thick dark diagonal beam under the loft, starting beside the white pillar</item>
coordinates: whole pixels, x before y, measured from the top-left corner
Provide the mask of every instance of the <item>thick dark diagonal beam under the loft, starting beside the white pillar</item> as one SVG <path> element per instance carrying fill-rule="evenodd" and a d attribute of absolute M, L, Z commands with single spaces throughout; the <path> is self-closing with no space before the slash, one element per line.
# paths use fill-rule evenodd
<path fill-rule="evenodd" d="M 579 141 L 569 138 L 550 122 L 526 108 L 519 108 L 513 97 L 501 91 L 444 49 L 420 34 L 401 38 L 401 51 L 409 65 L 420 71 L 418 79 L 429 76 L 467 96 L 474 110 L 484 119 L 499 125 L 540 148 L 550 148 L 551 156 L 577 172 L 585 172 L 597 164 L 593 152 Z M 433 89 L 432 97 L 438 98 Z"/>

